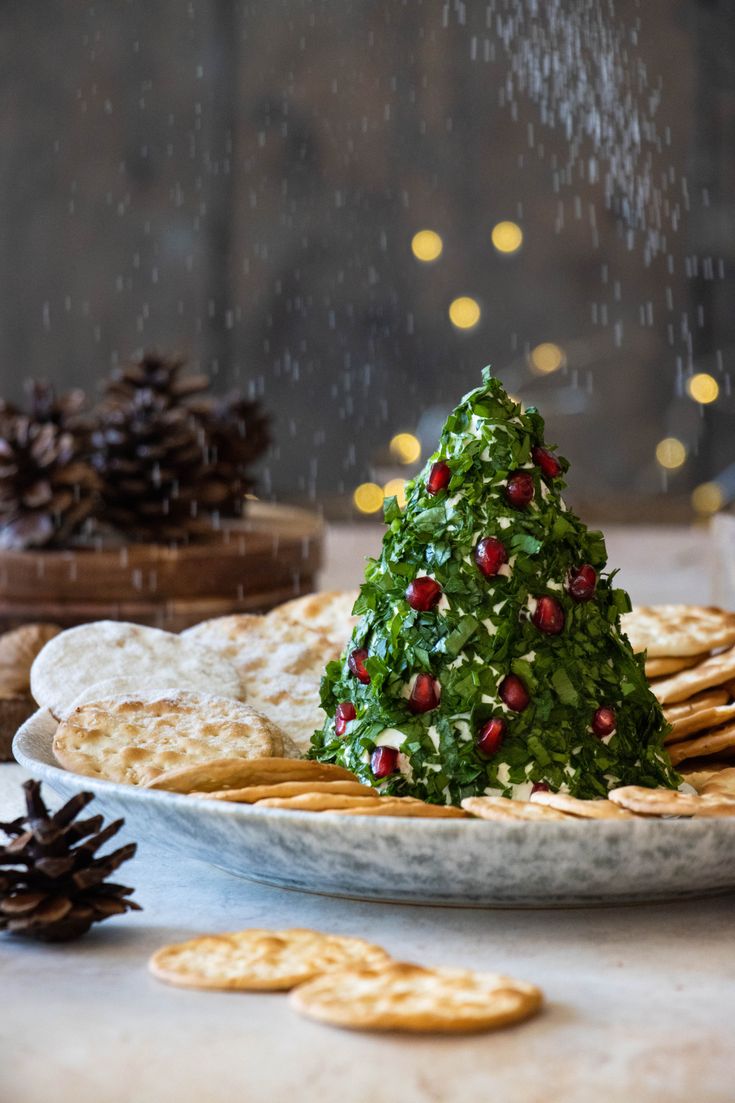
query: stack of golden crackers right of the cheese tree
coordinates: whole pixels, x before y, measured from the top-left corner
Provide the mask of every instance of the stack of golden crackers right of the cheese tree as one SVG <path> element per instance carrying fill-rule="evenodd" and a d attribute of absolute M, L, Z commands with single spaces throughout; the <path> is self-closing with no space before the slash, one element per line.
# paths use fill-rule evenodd
<path fill-rule="evenodd" d="M 685 777 L 735 765 L 735 613 L 641 606 L 624 618 L 671 725 L 667 750 Z"/>

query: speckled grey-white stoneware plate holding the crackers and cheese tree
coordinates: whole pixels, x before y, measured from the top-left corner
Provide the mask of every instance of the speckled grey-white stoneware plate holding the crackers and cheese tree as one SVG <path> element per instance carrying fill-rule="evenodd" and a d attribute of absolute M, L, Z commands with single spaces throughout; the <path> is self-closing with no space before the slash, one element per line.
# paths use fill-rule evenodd
<path fill-rule="evenodd" d="M 90 790 L 146 842 L 239 877 L 329 896 L 466 908 L 689 899 L 735 889 L 735 817 L 393 820 L 192 800 L 61 770 L 55 720 L 36 713 L 15 758 L 62 796 Z"/>

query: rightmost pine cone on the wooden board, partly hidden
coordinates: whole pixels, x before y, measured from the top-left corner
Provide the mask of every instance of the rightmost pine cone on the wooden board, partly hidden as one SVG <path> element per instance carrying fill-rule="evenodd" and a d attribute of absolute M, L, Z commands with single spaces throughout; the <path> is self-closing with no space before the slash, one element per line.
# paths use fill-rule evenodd
<path fill-rule="evenodd" d="M 232 394 L 211 401 L 200 424 L 206 449 L 200 501 L 224 516 L 241 516 L 255 486 L 252 465 L 270 443 L 270 419 L 259 403 Z"/>

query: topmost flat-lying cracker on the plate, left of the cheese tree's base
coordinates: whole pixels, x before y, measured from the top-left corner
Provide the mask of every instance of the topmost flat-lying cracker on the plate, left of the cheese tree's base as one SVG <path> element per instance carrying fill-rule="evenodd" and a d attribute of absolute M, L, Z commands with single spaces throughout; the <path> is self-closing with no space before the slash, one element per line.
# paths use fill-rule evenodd
<path fill-rule="evenodd" d="M 358 778 L 343 765 L 312 762 L 310 759 L 220 758 L 169 770 L 149 782 L 148 788 L 170 793 L 213 793 L 249 785 L 277 785 L 287 781 L 356 782 Z"/>

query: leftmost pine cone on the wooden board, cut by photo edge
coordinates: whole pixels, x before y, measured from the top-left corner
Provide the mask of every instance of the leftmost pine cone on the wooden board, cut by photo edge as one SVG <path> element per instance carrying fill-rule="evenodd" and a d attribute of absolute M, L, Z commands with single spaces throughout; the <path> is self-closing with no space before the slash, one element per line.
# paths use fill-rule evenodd
<path fill-rule="evenodd" d="M 95 505 L 85 446 L 53 420 L 0 409 L 0 548 L 62 546 Z"/>

